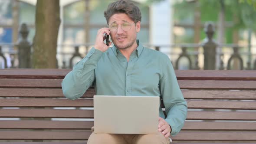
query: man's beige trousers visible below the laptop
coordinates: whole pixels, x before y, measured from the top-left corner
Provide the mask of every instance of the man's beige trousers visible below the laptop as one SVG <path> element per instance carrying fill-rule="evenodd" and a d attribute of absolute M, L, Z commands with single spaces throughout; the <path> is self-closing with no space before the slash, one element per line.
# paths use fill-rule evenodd
<path fill-rule="evenodd" d="M 170 144 L 169 137 L 158 134 L 95 134 L 90 135 L 87 144 Z"/>

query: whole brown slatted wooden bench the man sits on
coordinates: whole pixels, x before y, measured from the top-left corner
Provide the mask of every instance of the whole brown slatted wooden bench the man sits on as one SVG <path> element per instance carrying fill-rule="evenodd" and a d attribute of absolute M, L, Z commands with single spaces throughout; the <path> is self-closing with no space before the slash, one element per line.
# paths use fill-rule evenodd
<path fill-rule="evenodd" d="M 66 99 L 61 82 L 69 71 L 0 70 L 0 144 L 86 144 L 95 92 Z M 173 144 L 256 143 L 256 71 L 175 72 L 189 109 Z"/>

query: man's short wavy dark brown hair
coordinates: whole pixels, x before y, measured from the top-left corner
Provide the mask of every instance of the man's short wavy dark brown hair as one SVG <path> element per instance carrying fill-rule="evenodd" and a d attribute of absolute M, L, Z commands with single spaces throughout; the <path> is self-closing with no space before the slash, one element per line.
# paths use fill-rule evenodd
<path fill-rule="evenodd" d="M 130 0 L 118 0 L 108 5 L 108 9 L 104 12 L 107 23 L 109 18 L 116 13 L 127 14 L 135 23 L 141 21 L 140 9 Z"/>

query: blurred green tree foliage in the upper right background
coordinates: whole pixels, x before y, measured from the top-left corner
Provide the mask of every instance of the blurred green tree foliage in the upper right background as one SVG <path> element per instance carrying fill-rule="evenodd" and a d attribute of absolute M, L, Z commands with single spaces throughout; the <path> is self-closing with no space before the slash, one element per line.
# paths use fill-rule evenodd
<path fill-rule="evenodd" d="M 174 19 L 176 23 L 194 19 L 194 11 L 201 13 L 201 22 L 213 21 L 217 23 L 221 0 L 183 0 L 174 4 Z M 236 29 L 253 29 L 256 32 L 256 0 L 223 0 L 225 21 L 230 22 L 231 27 L 226 28 L 226 43 L 232 43 L 232 33 Z M 253 7 L 252 7 L 253 6 Z M 194 23 L 194 20 L 192 20 Z M 216 34 L 215 34 L 216 36 Z M 205 37 L 202 30 L 201 39 Z"/>

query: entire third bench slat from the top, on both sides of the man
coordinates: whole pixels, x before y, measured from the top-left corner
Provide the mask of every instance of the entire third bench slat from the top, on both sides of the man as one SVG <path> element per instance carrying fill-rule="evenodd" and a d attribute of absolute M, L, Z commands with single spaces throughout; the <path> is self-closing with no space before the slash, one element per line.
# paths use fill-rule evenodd
<path fill-rule="evenodd" d="M 229 90 L 182 90 L 184 98 L 190 99 L 248 99 L 256 100 L 256 91 Z M 92 98 L 95 90 L 89 88 L 83 97 Z M 61 88 L 0 88 L 0 97 L 49 97 L 62 98 Z"/>

